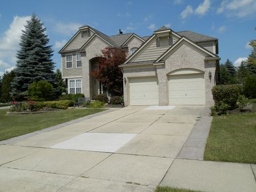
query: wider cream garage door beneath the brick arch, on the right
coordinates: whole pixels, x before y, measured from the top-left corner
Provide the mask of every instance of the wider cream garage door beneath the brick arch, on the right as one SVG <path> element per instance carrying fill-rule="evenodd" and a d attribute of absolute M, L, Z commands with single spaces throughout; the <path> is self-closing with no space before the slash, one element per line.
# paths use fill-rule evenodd
<path fill-rule="evenodd" d="M 169 105 L 205 105 L 204 74 L 170 75 Z"/>

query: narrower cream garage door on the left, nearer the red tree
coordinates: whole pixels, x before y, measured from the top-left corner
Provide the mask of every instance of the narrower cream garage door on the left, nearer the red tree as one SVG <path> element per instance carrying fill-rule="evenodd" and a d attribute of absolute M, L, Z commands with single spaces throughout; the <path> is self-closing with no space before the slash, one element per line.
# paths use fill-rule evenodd
<path fill-rule="evenodd" d="M 158 105 L 156 77 L 129 78 L 130 105 Z"/>

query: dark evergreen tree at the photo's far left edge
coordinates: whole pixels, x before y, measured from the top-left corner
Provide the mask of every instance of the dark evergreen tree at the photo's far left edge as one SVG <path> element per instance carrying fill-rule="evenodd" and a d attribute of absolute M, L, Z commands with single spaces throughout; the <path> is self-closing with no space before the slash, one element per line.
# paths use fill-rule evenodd
<path fill-rule="evenodd" d="M 8 73 L 8 71 L 5 71 L 3 78 L 2 78 L 2 88 L 1 88 L 1 98 L 0 101 L 1 102 L 10 102 L 12 101 L 12 97 L 11 97 L 11 82 L 13 81 L 15 74 L 14 71 L 10 71 L 10 73 Z"/>

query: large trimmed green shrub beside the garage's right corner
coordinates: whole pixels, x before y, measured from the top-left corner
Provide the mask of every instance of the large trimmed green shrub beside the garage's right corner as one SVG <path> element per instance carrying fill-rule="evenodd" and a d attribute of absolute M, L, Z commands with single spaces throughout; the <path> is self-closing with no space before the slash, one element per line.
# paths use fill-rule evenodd
<path fill-rule="evenodd" d="M 216 85 L 212 88 L 212 95 L 215 104 L 226 103 L 229 108 L 236 107 L 236 101 L 241 95 L 242 89 L 240 85 Z"/>

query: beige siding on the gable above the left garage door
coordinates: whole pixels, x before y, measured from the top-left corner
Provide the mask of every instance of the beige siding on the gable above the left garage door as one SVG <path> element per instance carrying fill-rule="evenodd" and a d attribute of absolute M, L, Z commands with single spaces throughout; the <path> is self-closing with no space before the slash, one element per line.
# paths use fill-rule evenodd
<path fill-rule="evenodd" d="M 160 57 L 170 46 L 157 47 L 156 40 L 143 52 L 139 55 L 134 62 L 138 61 L 150 61 L 156 60 Z"/>

